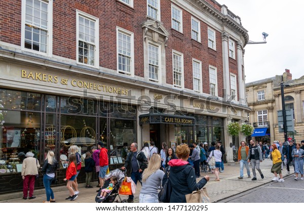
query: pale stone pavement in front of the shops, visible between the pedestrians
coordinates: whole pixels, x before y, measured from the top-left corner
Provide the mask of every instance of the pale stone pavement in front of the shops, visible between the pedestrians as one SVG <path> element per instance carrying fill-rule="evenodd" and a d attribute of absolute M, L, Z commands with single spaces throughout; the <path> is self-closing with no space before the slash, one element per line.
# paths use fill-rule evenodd
<path fill-rule="evenodd" d="M 251 166 L 250 167 L 250 172 L 251 172 L 251 177 L 252 175 L 252 170 Z M 245 194 L 255 189 L 260 186 L 266 186 L 265 184 L 268 184 L 272 182 L 272 178 L 274 177 L 274 174 L 270 172 L 270 169 L 272 167 L 272 161 L 265 159 L 262 163 L 260 163 L 260 168 L 262 170 L 262 173 L 264 174 L 264 179 L 261 179 L 260 175 L 257 172 L 257 181 L 251 181 L 251 178 L 247 177 L 246 174 L 246 169 L 244 168 L 244 179 L 239 180 L 238 176 L 240 176 L 240 166 L 239 163 L 235 163 L 234 165 L 227 165 L 225 164 L 224 167 L 224 172 L 221 172 L 219 174 L 220 181 L 216 182 L 215 180 L 215 175 L 211 174 L 210 172 L 208 173 L 201 173 L 201 176 L 203 175 L 209 175 L 210 176 L 210 181 L 206 184 L 206 188 L 208 191 L 208 194 L 211 198 L 212 202 L 220 202 L 223 199 L 230 198 L 232 196 L 235 196 L 237 194 L 245 192 Z M 293 168 L 292 170 L 293 171 Z M 286 167 L 283 167 L 283 176 L 291 176 L 293 177 L 293 174 L 287 175 Z M 286 179 L 286 177 L 284 177 Z M 287 178 L 287 180 L 289 180 Z M 197 180 L 199 181 L 199 179 Z M 280 183 L 281 187 L 286 186 L 288 182 Z M 298 181 L 298 184 L 304 183 L 304 181 L 300 182 Z M 96 186 L 97 183 L 92 183 L 92 186 Z M 96 196 L 96 190 L 97 188 L 90 188 L 86 189 L 84 188 L 85 184 L 79 184 L 80 188 L 80 194 L 78 198 L 75 201 L 69 201 L 65 200 L 66 197 L 68 197 L 68 191 L 65 186 L 60 186 L 60 187 L 53 187 L 53 191 L 55 194 L 55 199 L 56 202 L 60 203 L 70 203 L 70 202 L 78 202 L 78 203 L 90 203 L 90 202 L 95 202 L 95 196 Z M 287 186 L 288 188 L 292 188 Z M 301 187 L 302 188 L 302 187 Z M 134 195 L 134 202 L 138 202 L 138 197 L 139 197 L 139 192 L 141 189 L 141 185 L 138 183 L 137 184 L 137 189 L 136 189 L 136 194 Z M 248 191 L 248 192 L 247 192 Z M 268 192 L 268 191 L 267 191 Z M 271 194 L 271 193 L 270 193 Z M 41 203 L 44 200 L 46 200 L 46 195 L 45 195 L 45 190 L 44 189 L 37 189 L 34 191 L 34 195 L 36 196 L 35 199 L 32 200 L 23 200 L 22 199 L 22 192 L 18 193 L 11 193 L 11 194 L 5 194 L 5 195 L 0 195 L 0 203 Z M 127 199 L 128 196 L 121 196 L 121 199 Z M 260 197 L 260 196 L 258 196 Z M 118 202 L 120 202 L 119 197 L 117 197 Z M 260 201 L 256 201 L 260 202 Z"/>

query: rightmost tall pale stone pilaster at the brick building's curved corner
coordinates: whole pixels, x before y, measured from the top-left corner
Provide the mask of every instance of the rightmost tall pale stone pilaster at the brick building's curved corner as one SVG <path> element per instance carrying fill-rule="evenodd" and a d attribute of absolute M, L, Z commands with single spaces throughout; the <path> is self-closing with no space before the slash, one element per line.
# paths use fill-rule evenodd
<path fill-rule="evenodd" d="M 242 105 L 246 104 L 245 100 L 245 87 L 244 87 L 244 82 L 245 78 L 243 76 L 243 44 L 242 42 L 237 42 L 237 55 L 238 55 L 238 79 L 239 79 L 239 102 Z"/>

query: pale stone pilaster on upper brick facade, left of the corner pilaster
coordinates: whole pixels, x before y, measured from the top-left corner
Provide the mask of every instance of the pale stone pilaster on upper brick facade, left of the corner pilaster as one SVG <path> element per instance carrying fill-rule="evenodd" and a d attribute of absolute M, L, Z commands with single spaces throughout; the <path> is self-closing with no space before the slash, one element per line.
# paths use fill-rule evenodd
<path fill-rule="evenodd" d="M 222 32 L 222 58 L 223 58 L 223 98 L 229 100 L 230 98 L 230 72 L 229 72 L 229 49 L 228 40 L 229 34 Z"/>

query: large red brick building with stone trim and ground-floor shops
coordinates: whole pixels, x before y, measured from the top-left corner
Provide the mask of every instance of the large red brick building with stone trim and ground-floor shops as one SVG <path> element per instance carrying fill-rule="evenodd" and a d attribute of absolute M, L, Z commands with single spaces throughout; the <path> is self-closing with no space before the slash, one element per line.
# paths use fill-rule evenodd
<path fill-rule="evenodd" d="M 238 141 L 226 126 L 244 123 L 250 110 L 249 38 L 225 5 L 22 0 L 0 10 L 0 158 L 7 163 L 20 163 L 10 156 L 28 150 L 43 161 L 52 149 L 60 159 L 71 145 L 85 154 L 99 140 L 118 158 L 111 168 L 123 162 L 124 143 L 141 148 L 151 140 L 159 149 L 163 141 L 221 140 L 233 162 Z"/>

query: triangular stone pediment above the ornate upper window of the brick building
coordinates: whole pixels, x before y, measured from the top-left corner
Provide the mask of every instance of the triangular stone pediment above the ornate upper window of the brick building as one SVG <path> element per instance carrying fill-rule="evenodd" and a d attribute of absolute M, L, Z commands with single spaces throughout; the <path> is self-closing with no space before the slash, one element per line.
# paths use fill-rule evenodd
<path fill-rule="evenodd" d="M 154 42 L 164 42 L 165 44 L 167 43 L 169 32 L 160 21 L 147 17 L 147 21 L 143 22 L 141 24 L 141 27 L 143 29 L 144 39 L 148 37 Z M 163 41 L 159 41 L 160 39 Z"/>

